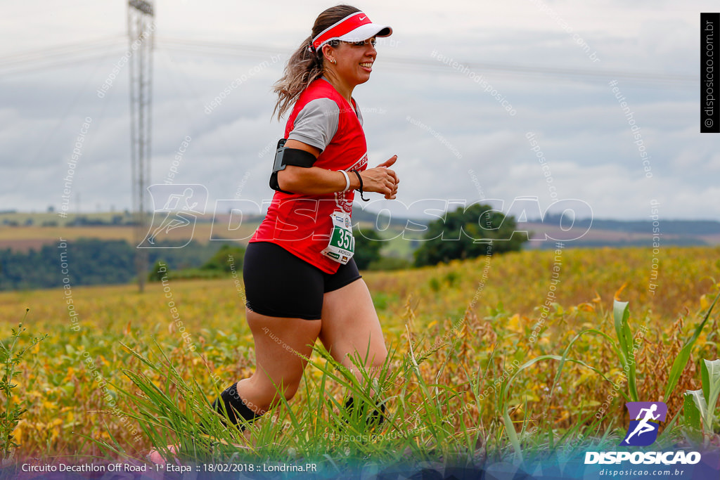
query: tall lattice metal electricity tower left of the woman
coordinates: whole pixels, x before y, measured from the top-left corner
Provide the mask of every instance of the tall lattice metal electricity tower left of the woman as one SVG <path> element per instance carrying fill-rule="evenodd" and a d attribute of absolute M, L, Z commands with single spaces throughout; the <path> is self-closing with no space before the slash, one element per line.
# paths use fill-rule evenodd
<path fill-rule="evenodd" d="M 153 1 L 127 2 L 127 36 L 130 45 L 130 161 L 132 212 L 135 227 L 135 271 L 138 288 L 145 289 L 148 249 L 138 248 L 148 231 L 145 191 L 150 181 L 150 114 L 153 101 Z"/>

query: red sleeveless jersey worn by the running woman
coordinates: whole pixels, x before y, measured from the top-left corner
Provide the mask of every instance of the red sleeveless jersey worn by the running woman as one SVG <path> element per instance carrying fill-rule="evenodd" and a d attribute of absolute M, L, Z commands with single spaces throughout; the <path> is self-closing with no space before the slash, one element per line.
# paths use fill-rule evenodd
<path fill-rule="evenodd" d="M 294 120 L 302 108 L 320 98 L 331 99 L 338 105 L 338 130 L 318 155 L 314 166 L 336 171 L 365 170 L 367 145 L 362 125 L 348 101 L 323 78 L 310 83 L 300 94 L 287 119 L 285 138 L 292 132 Z M 276 191 L 265 219 L 250 242 L 275 243 L 325 273 L 335 273 L 341 264 L 320 252 L 328 246 L 333 230 L 330 214 L 336 210 L 352 214 L 353 198 L 354 191 L 325 195 Z"/>

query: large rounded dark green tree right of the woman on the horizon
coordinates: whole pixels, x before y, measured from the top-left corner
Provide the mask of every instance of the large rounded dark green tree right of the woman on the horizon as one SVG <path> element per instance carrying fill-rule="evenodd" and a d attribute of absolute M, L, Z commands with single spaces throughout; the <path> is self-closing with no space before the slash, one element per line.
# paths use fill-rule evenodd
<path fill-rule="evenodd" d="M 448 212 L 444 219 L 428 225 L 424 241 L 415 250 L 415 266 L 520 250 L 528 238 L 523 234 L 513 235 L 515 229 L 514 217 L 505 217 L 490 205 L 459 207 Z M 492 240 L 492 246 L 483 239 Z"/>

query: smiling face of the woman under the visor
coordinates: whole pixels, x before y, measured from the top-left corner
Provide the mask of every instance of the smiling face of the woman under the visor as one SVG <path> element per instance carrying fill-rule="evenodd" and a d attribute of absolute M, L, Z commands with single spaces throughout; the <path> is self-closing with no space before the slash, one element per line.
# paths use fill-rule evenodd
<path fill-rule="evenodd" d="M 375 37 L 372 37 L 364 42 L 339 42 L 336 47 L 323 47 L 325 68 L 351 88 L 365 83 L 370 79 L 372 64 L 377 58 L 374 44 Z"/>

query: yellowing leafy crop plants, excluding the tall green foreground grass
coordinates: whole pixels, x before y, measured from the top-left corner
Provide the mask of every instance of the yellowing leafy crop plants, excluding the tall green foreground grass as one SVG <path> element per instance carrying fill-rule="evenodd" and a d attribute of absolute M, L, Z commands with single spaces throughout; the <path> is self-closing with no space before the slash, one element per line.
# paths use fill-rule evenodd
<path fill-rule="evenodd" d="M 378 317 L 387 345 L 398 347 L 398 358 L 408 353 L 408 340 L 418 342 L 413 345 L 416 358 L 437 348 L 420 363 L 420 374 L 428 383 L 451 386 L 463 393 L 448 400 L 444 412 L 459 411 L 463 398 L 475 401 L 470 394 L 471 380 L 482 379 L 480 392 L 495 381 L 499 385 L 506 381 L 507 376 L 505 380 L 503 376 L 513 361 L 524 363 L 538 356 L 560 355 L 580 330 L 595 328 L 614 338 L 613 296 L 630 302 L 634 332 L 639 325 L 649 327 L 636 353 L 636 368 L 642 399 L 650 399 L 662 391 L 660 384 L 665 377 L 660 373 L 667 371 L 677 355 L 675 344 L 678 338 L 687 337 L 693 314 L 709 307 L 709 299 L 718 288 L 711 279 L 720 277 L 716 265 L 720 248 L 667 247 L 663 255 L 662 282 L 654 294 L 648 291 L 652 251 L 642 248 L 564 250 L 561 281 L 552 298 L 548 298 L 551 251 L 494 255 L 486 278 L 485 258 L 411 271 L 363 272 L 363 277 L 373 296 L 382 295 L 382 302 L 375 303 L 384 305 Z M 456 281 L 442 282 L 440 291 L 430 288 L 431 279 L 449 275 Z M 29 402 L 28 411 L 14 429 L 14 438 L 22 443 L 22 455 L 73 453 L 85 440 L 70 435 L 70 430 L 106 439 L 112 433 L 121 443 L 132 442 L 127 425 L 111 415 L 107 391 L 96 378 L 100 375 L 108 382 L 117 407 L 129 412 L 132 407 L 115 386 L 136 391 L 122 370 L 141 373 L 146 366 L 128 348 L 146 354 L 157 340 L 170 352 L 178 371 L 197 380 L 206 391 L 213 391 L 218 378 L 229 381 L 249 376 L 254 368 L 253 336 L 244 318 L 242 300 L 233 292 L 228 294 L 227 279 L 173 283 L 185 331 L 192 335 L 197 353 L 202 353 L 207 365 L 197 353 L 184 350 L 160 284 L 149 284 L 142 295 L 132 285 L 74 288 L 73 302 L 83 314 L 81 333 L 66 328 L 66 304 L 53 300 L 62 298 L 58 290 L 0 292 L 0 318 L 17 318 L 30 307 L 34 333 L 52 335 L 27 352 L 27 371 L 17 379 L 19 386 L 12 396 L 15 404 Z M 683 322 L 673 327 L 679 316 Z M 6 323 L 0 327 L 3 337 L 9 328 Z M 535 341 L 530 341 L 531 332 L 536 332 Z M 698 345 L 705 348 L 703 355 L 715 358 L 717 347 L 713 345 L 720 344 L 718 335 L 708 329 L 702 339 L 706 341 Z M 569 356 L 598 368 L 612 381 L 621 381 L 618 358 L 598 336 L 583 337 Z M 318 360 L 316 355 L 313 358 Z M 692 360 L 697 361 L 697 356 Z M 513 420 L 549 420 L 558 427 L 569 427 L 579 418 L 580 404 L 585 408 L 583 417 L 587 417 L 588 409 L 597 409 L 608 394 L 615 393 L 597 373 L 566 362 L 551 397 L 549 389 L 558 368 L 557 361 L 539 362 L 513 379 L 510 396 L 518 405 Z M 308 367 L 305 373 L 310 381 L 321 376 L 316 368 Z M 688 368 L 681 384 L 693 386 L 696 373 Z M 164 386 L 164 379 L 156 373 L 147 374 L 154 384 Z M 402 379 L 402 383 L 397 388 L 416 386 L 413 379 Z M 339 389 L 328 391 L 338 401 L 343 393 Z M 300 408 L 307 402 L 304 396 L 305 389 L 301 388 L 292 405 Z M 462 417 L 466 426 L 497 422 L 500 407 L 495 398 L 489 390 L 485 399 L 467 409 Z M 621 396 L 614 398 L 616 404 L 611 408 L 621 405 Z M 405 400 L 408 417 L 399 423 L 413 428 L 418 422 L 411 415 L 419 412 L 420 403 L 417 397 Z M 523 402 L 527 402 L 526 407 L 521 406 Z M 455 418 L 451 423 L 457 425 L 459 421 Z M 418 442 L 423 441 L 423 435 L 426 433 L 418 434 Z M 149 448 L 143 441 L 132 445 Z"/>

